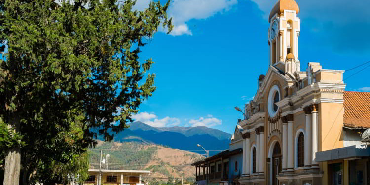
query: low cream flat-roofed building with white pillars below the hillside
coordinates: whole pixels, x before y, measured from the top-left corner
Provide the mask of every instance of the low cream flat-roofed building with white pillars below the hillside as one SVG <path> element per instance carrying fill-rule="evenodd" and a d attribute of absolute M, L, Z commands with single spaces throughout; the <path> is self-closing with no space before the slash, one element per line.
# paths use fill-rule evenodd
<path fill-rule="evenodd" d="M 83 185 L 144 185 L 143 175 L 148 170 L 102 170 L 99 181 L 99 169 L 89 169 L 89 178 Z"/>

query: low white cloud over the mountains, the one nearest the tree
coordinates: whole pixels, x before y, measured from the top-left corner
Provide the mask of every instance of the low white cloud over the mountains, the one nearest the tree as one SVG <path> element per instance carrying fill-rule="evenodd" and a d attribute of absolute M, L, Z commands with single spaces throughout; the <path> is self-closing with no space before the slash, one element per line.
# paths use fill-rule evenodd
<path fill-rule="evenodd" d="M 178 118 L 166 116 L 162 119 L 158 119 L 155 114 L 148 112 L 140 112 L 136 115 L 132 115 L 131 118 L 154 127 L 171 127 L 180 124 L 180 119 Z"/>

